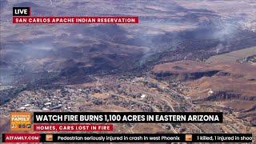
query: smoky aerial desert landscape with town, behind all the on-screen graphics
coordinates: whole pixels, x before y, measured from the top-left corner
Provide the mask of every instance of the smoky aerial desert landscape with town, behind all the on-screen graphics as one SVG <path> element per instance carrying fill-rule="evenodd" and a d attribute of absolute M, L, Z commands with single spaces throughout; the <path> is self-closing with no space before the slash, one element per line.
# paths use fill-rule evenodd
<path fill-rule="evenodd" d="M 256 1 L 0 2 L 1 132 L 12 110 L 207 111 L 223 112 L 224 122 L 118 123 L 114 132 L 255 137 Z M 14 6 L 139 22 L 13 24 Z"/>

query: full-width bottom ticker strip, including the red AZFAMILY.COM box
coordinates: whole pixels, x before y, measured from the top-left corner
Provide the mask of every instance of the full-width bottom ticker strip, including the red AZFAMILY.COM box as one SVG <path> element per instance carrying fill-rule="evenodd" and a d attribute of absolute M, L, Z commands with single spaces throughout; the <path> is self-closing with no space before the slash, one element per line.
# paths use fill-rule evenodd
<path fill-rule="evenodd" d="M 2 134 L 2 142 L 252 142 L 252 134 Z"/>

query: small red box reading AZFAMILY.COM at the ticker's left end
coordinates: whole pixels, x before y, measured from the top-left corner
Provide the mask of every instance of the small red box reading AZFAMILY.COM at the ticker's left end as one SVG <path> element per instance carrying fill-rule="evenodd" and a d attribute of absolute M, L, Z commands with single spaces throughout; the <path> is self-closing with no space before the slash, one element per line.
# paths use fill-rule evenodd
<path fill-rule="evenodd" d="M 4 142 L 40 142 L 40 134 L 4 134 Z"/>

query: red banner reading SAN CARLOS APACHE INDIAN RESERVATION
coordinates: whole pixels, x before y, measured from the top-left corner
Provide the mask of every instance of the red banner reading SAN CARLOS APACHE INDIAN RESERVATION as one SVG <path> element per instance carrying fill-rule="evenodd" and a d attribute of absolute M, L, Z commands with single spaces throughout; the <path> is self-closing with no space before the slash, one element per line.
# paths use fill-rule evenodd
<path fill-rule="evenodd" d="M 138 23 L 138 17 L 122 16 L 122 17 L 20 17 L 14 16 L 13 23 L 117 23 L 117 24 L 134 24 Z"/>

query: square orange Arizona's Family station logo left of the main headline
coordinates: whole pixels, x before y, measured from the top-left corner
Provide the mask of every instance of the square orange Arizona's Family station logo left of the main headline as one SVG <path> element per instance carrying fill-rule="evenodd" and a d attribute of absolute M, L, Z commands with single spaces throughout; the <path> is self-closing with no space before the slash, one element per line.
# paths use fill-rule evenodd
<path fill-rule="evenodd" d="M 10 112 L 10 130 L 31 130 L 31 118 L 29 112 Z"/>

